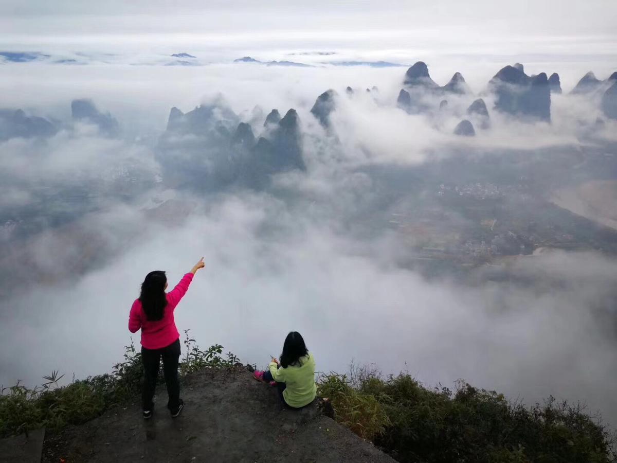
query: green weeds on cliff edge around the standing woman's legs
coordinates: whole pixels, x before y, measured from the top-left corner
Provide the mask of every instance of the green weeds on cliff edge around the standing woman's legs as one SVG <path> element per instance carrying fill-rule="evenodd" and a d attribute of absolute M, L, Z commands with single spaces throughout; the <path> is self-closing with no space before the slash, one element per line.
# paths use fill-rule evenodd
<path fill-rule="evenodd" d="M 180 372 L 196 372 L 204 368 L 229 367 L 238 362 L 238 357 L 223 346 L 215 344 L 202 351 L 194 339 L 185 332 L 186 355 L 180 362 Z M 160 369 L 162 372 L 162 369 Z M 57 370 L 43 377 L 44 383 L 27 388 L 21 382 L 0 390 L 0 437 L 20 434 L 30 429 L 45 427 L 59 430 L 69 424 L 85 423 L 116 404 L 134 400 L 141 390 L 143 364 L 141 352 L 135 348 L 133 339 L 125 347 L 124 360 L 114 365 L 111 374 L 75 380 L 59 386 L 64 377 Z M 159 382 L 163 383 L 162 373 Z"/>

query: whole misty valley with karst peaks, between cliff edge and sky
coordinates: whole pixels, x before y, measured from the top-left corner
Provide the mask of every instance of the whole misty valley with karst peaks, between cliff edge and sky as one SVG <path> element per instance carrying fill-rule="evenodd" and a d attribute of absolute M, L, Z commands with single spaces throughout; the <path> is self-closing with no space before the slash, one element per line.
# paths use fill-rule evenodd
<path fill-rule="evenodd" d="M 172 285 L 204 255 L 176 311 L 202 346 L 262 364 L 299 330 L 323 372 L 464 378 L 615 423 L 614 52 L 12 37 L 2 385 L 109 371 L 144 275 Z"/>

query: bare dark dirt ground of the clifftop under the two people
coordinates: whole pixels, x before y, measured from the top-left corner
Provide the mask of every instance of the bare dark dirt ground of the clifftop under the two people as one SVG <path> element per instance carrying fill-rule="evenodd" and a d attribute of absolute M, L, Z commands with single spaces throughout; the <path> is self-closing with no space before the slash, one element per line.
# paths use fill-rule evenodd
<path fill-rule="evenodd" d="M 189 375 L 185 407 L 172 419 L 165 386 L 157 388 L 150 420 L 139 403 L 46 439 L 44 462 L 393 462 L 347 428 L 321 414 L 317 403 L 285 409 L 275 388 L 244 368 Z"/>

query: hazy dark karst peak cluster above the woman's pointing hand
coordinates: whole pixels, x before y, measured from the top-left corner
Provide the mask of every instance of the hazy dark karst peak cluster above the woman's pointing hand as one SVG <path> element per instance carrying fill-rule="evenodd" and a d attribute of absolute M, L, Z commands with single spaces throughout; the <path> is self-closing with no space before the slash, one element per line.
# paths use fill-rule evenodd
<path fill-rule="evenodd" d="M 254 123 L 262 117 L 255 117 Z M 182 182 L 206 191 L 230 185 L 261 189 L 270 184 L 272 174 L 304 170 L 296 111 L 290 109 L 281 119 L 273 109 L 264 125 L 263 135 L 255 140 L 251 124 L 241 122 L 222 100 L 202 104 L 186 114 L 172 108 L 167 131 L 157 146 L 165 180 L 170 185 Z"/>

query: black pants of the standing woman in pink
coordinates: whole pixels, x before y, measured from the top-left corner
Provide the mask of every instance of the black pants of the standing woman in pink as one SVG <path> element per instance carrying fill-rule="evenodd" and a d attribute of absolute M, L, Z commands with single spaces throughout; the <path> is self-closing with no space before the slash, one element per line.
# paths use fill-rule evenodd
<path fill-rule="evenodd" d="M 180 406 L 180 382 L 178 381 L 178 360 L 180 359 L 180 338 L 161 349 L 146 349 L 141 346 L 141 360 L 144 362 L 144 387 L 141 393 L 141 406 L 152 410 L 154 390 L 159 377 L 160 359 L 163 358 L 163 373 L 167 385 L 169 401 L 167 408 L 176 411 Z"/>

